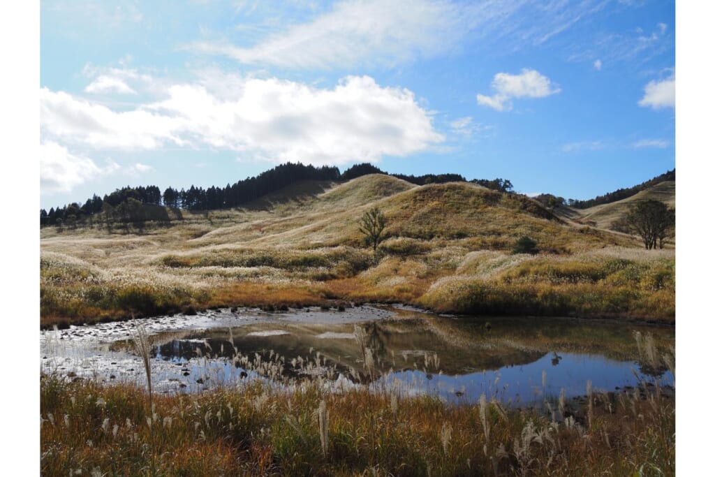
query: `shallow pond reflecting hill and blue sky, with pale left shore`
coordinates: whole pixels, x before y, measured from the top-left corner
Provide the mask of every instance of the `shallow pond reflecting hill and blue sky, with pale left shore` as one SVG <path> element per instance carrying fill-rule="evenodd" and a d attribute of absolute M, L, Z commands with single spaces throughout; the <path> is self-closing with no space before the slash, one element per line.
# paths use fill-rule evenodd
<path fill-rule="evenodd" d="M 320 380 L 475 402 L 483 393 L 528 405 L 544 398 L 673 385 L 672 327 L 573 318 L 453 317 L 406 307 L 214 310 L 41 332 L 41 368 L 69 379 L 144 383 L 132 331 L 152 341 L 157 392 L 200 392 L 264 380 Z M 650 353 L 651 358 L 645 358 Z"/>

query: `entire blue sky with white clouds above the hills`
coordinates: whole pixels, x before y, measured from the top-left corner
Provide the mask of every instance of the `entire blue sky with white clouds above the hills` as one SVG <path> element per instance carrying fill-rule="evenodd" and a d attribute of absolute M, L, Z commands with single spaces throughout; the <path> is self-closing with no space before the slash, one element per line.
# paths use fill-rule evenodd
<path fill-rule="evenodd" d="M 675 167 L 674 1 L 42 1 L 41 207 L 282 162 L 588 199 Z"/>

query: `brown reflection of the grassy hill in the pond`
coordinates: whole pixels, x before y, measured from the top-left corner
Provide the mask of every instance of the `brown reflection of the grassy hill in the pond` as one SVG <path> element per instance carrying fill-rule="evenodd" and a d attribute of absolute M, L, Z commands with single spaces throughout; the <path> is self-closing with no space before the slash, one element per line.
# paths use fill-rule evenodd
<path fill-rule="evenodd" d="M 638 358 L 633 340 L 636 329 L 654 335 L 659 345 L 674 343 L 672 328 L 558 318 L 446 318 L 399 311 L 397 318 L 360 325 L 262 323 L 159 336 L 163 344 L 157 351 L 164 358 L 184 360 L 199 353 L 224 358 L 260 353 L 266 359 L 272 351 L 285 358 L 287 370 L 293 358 L 312 361 L 319 352 L 325 365 L 365 373 L 363 351 L 354 336 L 355 327 L 360 326 L 365 347 L 381 373 L 419 369 L 462 375 L 526 365 L 547 353 L 553 353 L 551 365 L 558 365 L 558 353 L 634 360 Z"/>

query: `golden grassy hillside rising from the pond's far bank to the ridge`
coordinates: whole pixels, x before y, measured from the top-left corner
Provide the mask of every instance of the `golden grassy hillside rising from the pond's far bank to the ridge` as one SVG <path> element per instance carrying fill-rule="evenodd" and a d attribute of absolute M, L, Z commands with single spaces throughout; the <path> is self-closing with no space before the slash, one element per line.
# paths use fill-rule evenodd
<path fill-rule="evenodd" d="M 386 217 L 373 252 L 365 210 Z M 306 182 L 182 220 L 41 229 L 41 324 L 235 305 L 403 302 L 444 312 L 674 320 L 674 250 L 469 182 Z M 516 240 L 537 255 L 513 255 Z"/>

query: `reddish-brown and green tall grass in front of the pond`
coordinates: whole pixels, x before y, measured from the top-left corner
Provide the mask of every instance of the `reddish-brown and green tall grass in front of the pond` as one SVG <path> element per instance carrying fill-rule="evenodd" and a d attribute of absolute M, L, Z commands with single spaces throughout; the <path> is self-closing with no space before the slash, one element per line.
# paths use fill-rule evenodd
<path fill-rule="evenodd" d="M 671 365 L 648 335 L 641 360 Z M 548 377 L 544 376 L 543 380 Z M 542 383 L 544 384 L 544 383 Z M 41 376 L 43 475 L 674 475 L 675 405 L 656 381 L 543 408 L 390 388 L 260 382 L 193 395 Z M 580 404 L 579 404 L 580 402 Z M 558 408 L 558 410 L 557 410 Z"/>

